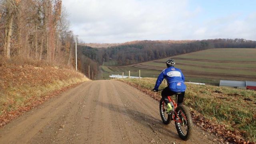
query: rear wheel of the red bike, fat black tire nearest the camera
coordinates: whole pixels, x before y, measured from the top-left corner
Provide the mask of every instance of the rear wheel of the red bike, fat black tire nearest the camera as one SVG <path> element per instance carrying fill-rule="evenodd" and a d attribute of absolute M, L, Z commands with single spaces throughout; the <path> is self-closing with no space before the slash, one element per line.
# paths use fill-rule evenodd
<path fill-rule="evenodd" d="M 188 140 L 192 134 L 193 122 L 189 110 L 184 105 L 179 105 L 176 108 L 177 120 L 175 126 L 182 140 Z"/>

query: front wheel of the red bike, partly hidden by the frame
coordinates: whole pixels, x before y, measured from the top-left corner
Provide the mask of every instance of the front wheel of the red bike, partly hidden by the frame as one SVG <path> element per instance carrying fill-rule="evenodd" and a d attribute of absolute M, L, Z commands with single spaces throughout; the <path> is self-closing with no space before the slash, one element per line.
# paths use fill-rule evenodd
<path fill-rule="evenodd" d="M 170 124 L 170 121 L 172 119 L 172 115 L 171 114 L 167 114 L 167 105 L 164 103 L 164 99 L 162 98 L 160 100 L 160 116 L 162 118 L 162 121 L 164 124 Z"/>

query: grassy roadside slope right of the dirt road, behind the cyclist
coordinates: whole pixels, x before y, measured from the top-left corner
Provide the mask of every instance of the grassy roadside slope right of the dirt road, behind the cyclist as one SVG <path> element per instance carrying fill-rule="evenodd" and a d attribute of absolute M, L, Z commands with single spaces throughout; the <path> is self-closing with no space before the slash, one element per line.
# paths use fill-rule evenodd
<path fill-rule="evenodd" d="M 132 83 L 135 87 L 146 90 L 146 93 L 152 93 L 150 91 L 156 82 L 154 78 L 143 78 L 140 81 L 138 79 L 120 80 Z M 235 133 L 238 133 L 238 130 L 245 140 L 256 142 L 256 91 L 188 83 L 186 85 L 184 104 L 191 107 L 192 111 L 199 112 L 210 122 L 224 125 L 226 132 L 218 128 L 215 132 L 223 134 L 232 141 L 239 139 L 239 136 L 233 135 L 229 130 Z M 162 83 L 159 89 L 164 87 Z M 160 92 L 151 95 L 160 99 Z M 210 131 L 212 129 L 210 128 Z"/>

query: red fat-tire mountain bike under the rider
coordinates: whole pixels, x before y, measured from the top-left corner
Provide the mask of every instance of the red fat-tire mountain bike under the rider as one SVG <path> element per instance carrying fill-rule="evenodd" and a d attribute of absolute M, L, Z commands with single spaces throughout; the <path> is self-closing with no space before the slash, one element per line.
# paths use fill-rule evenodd
<path fill-rule="evenodd" d="M 164 124 L 169 124 L 174 120 L 177 132 L 182 140 L 188 140 L 192 134 L 193 122 L 190 111 L 185 105 L 177 105 L 178 96 L 181 93 L 175 93 L 176 102 L 168 96 L 168 100 L 173 106 L 173 110 L 167 113 L 167 105 L 164 103 L 164 98 L 160 100 L 160 115 Z"/>

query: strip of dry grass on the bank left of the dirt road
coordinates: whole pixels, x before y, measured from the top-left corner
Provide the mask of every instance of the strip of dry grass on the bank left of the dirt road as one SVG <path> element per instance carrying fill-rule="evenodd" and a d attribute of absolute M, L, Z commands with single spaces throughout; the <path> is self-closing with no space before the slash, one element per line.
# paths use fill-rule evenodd
<path fill-rule="evenodd" d="M 4 93 L 2 93 L 3 91 L 0 93 L 0 115 L 18 110 L 20 107 L 27 107 L 34 103 L 34 101 L 38 101 L 54 91 L 83 81 L 86 81 L 86 79 L 71 78 L 62 81 L 56 80 L 52 83 L 35 85 L 33 87 L 30 85 L 10 87 L 6 89 Z"/>

